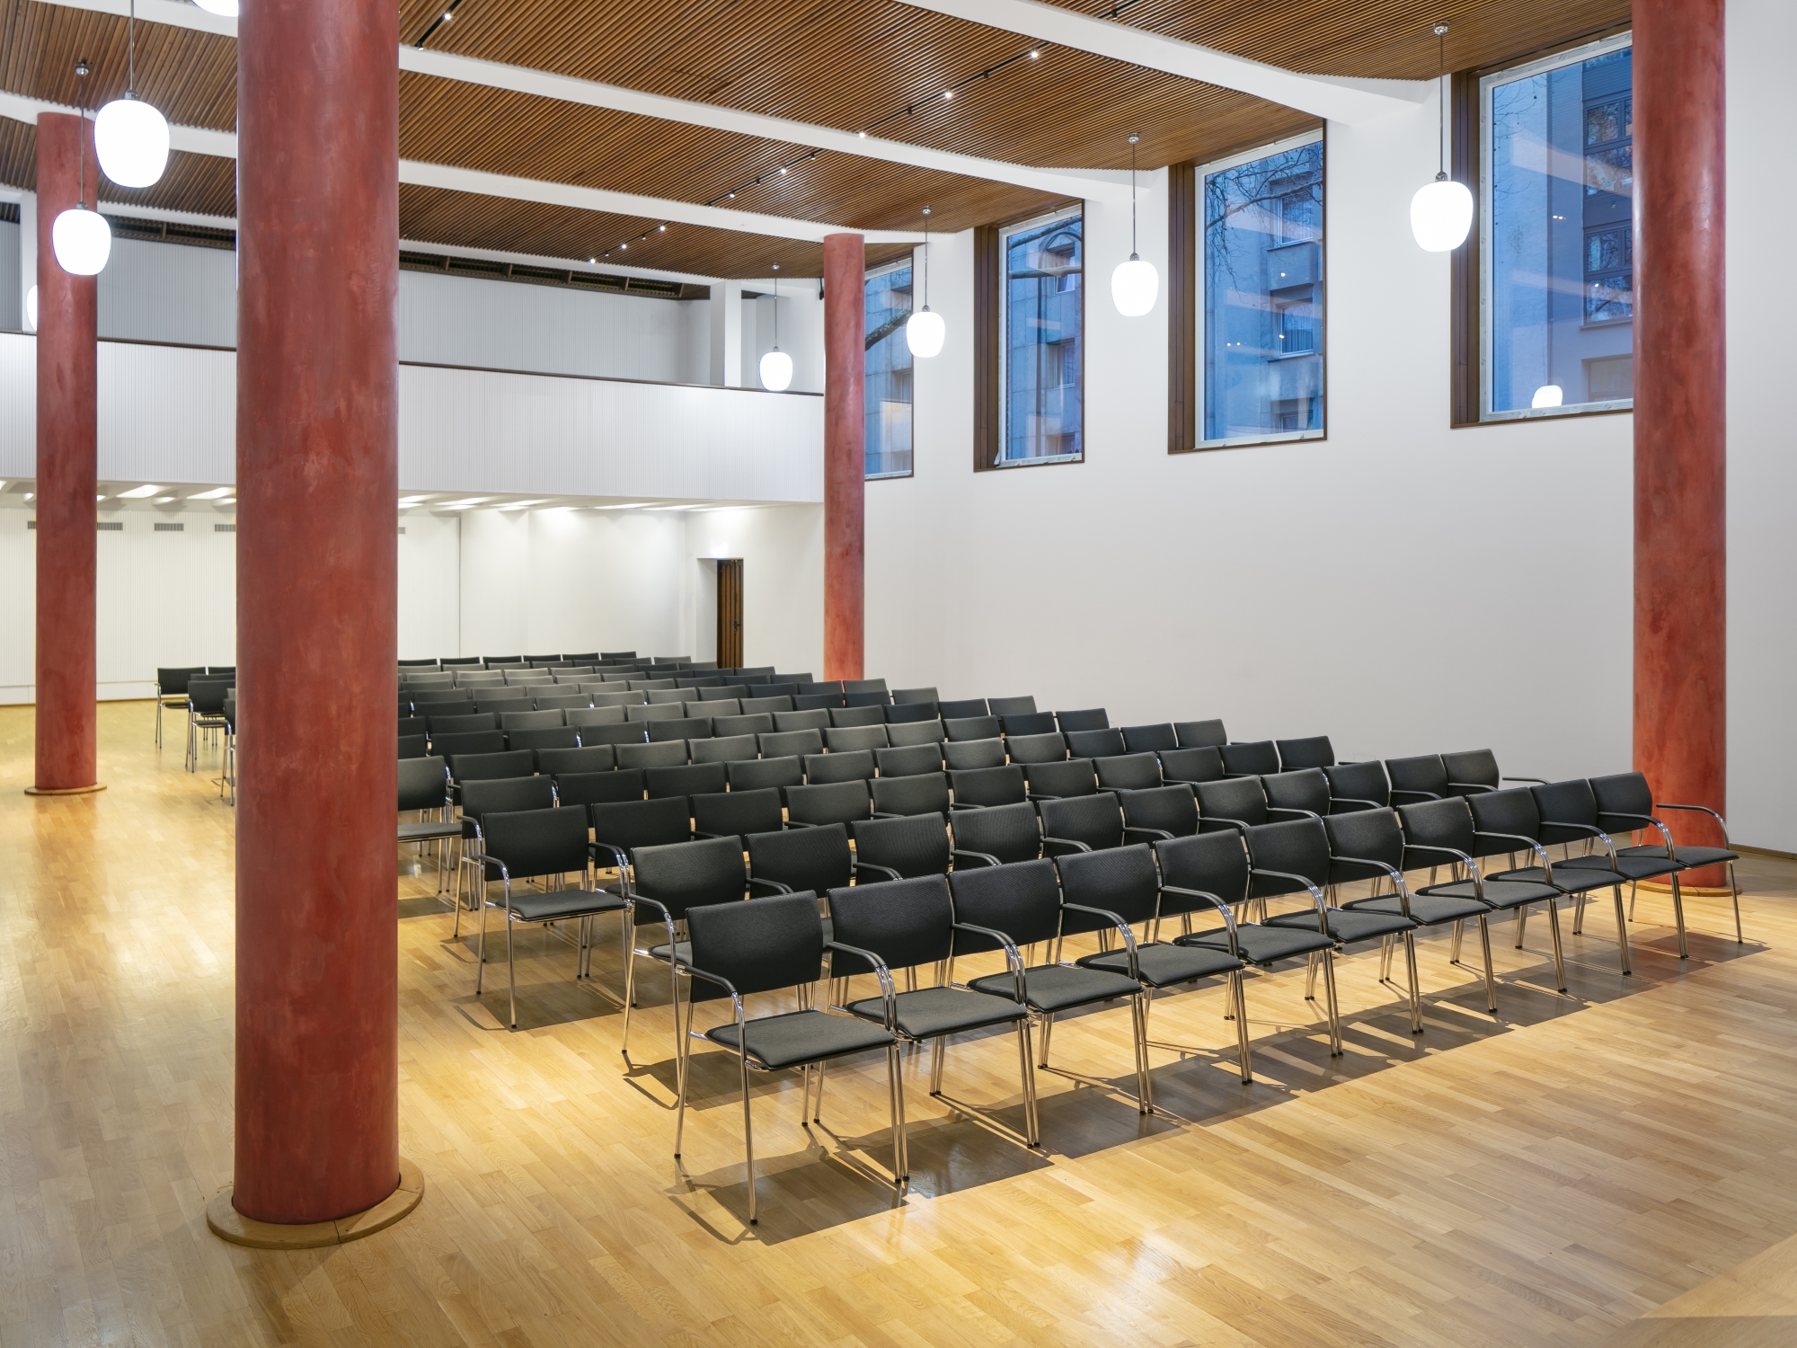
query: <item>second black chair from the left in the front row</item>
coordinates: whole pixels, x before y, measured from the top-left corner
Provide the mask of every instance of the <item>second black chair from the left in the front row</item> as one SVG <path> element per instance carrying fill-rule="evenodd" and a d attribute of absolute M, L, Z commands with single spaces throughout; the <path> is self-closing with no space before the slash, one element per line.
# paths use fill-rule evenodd
<path fill-rule="evenodd" d="M 873 972 L 881 980 L 881 996 L 848 1001 L 846 992 L 837 1010 L 859 1015 L 884 1026 L 909 1044 L 931 1046 L 929 1093 L 942 1095 L 942 1060 L 949 1035 L 990 1030 L 1003 1024 L 1017 1026 L 1017 1062 L 1022 1075 L 1022 1141 L 1035 1147 L 1035 1062 L 1030 1051 L 1030 1012 L 1022 1005 L 1021 981 L 1010 998 L 954 987 L 947 965 L 954 954 L 960 924 L 954 920 L 954 900 L 942 875 L 888 881 L 886 884 L 857 884 L 852 890 L 830 893 L 834 929 L 845 947 L 879 951 L 881 963 L 872 971 L 866 960 L 841 953 L 830 962 L 832 978 L 854 972 Z M 987 933 L 988 936 L 992 933 Z M 933 987 L 915 987 L 920 965 L 936 969 Z M 900 992 L 893 978 L 906 971 L 907 989 Z M 843 985 L 846 989 L 846 983 Z M 956 1109 L 967 1109 L 956 1104 Z M 985 1116 L 981 1113 L 981 1116 Z M 988 1120 L 992 1122 L 992 1120 Z"/>

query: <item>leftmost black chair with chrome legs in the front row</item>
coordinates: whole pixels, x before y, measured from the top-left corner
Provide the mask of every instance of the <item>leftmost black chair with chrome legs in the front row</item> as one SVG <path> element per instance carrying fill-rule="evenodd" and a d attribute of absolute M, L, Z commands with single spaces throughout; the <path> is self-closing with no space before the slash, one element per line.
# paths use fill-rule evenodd
<path fill-rule="evenodd" d="M 906 1186 L 907 1157 L 904 1145 L 904 1086 L 898 1073 L 898 1035 L 882 1024 L 872 1024 L 857 1015 L 830 1015 L 821 1010 L 780 1012 L 775 1015 L 748 1017 L 742 1007 L 744 998 L 757 992 L 776 992 L 782 989 L 803 989 L 823 976 L 823 953 L 843 951 L 863 958 L 879 960 L 870 951 L 850 949 L 834 942 L 825 942 L 823 922 L 818 918 L 818 904 L 812 895 L 780 895 L 762 899 L 753 904 L 708 904 L 688 913 L 692 929 L 692 962 L 681 967 L 692 980 L 692 999 L 688 1001 L 686 1021 L 692 1024 L 692 1007 L 695 1001 L 710 998 L 730 998 L 735 1019 L 706 1030 L 703 1037 L 731 1050 L 742 1080 L 742 1154 L 749 1179 L 749 1226 L 755 1226 L 755 1131 L 749 1111 L 749 1071 L 782 1071 L 787 1068 L 805 1069 L 805 1114 L 812 1114 L 810 1105 L 810 1069 L 819 1069 L 818 1109 L 823 1107 L 823 1064 L 868 1053 L 877 1048 L 886 1050 L 886 1089 L 891 1100 L 893 1132 L 893 1186 L 902 1193 Z M 686 1125 L 686 1080 L 685 1062 L 679 1073 L 679 1107 L 674 1125 L 674 1154 L 679 1156 L 681 1134 Z"/>

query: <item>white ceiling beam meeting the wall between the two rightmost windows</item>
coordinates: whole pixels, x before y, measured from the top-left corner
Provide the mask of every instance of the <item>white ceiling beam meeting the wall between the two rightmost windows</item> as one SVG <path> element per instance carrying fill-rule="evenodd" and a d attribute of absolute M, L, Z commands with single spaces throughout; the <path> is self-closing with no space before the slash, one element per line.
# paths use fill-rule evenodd
<path fill-rule="evenodd" d="M 120 0 L 122 4 L 124 0 Z M 1057 47 L 1073 47 L 1112 61 L 1129 61 L 1148 70 L 1164 70 L 1206 84 L 1253 93 L 1256 99 L 1357 126 L 1414 110 L 1429 95 L 1421 79 L 1350 79 L 1344 75 L 1303 75 L 1283 67 L 1249 61 L 1197 43 L 1164 38 L 1159 32 L 1093 18 L 1076 9 L 1042 0 L 902 0 L 949 18 L 983 23 L 988 29 L 1019 32 Z"/>

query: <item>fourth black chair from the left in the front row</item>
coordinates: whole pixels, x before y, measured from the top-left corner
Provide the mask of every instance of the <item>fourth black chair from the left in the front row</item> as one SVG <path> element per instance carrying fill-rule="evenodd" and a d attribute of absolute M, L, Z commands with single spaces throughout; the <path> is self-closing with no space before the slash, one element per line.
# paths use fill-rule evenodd
<path fill-rule="evenodd" d="M 1175 945 L 1159 938 L 1161 926 L 1161 872 L 1154 863 L 1154 854 L 1146 843 L 1118 847 L 1109 852 L 1075 852 L 1057 857 L 1055 870 L 1060 874 L 1060 897 L 1064 913 L 1080 915 L 1094 931 L 1109 935 L 1107 926 L 1100 926 L 1105 917 L 1121 922 L 1123 927 L 1141 927 L 1141 940 L 1125 944 L 1123 949 L 1102 949 L 1075 960 L 1080 969 L 1098 969 L 1109 974 L 1123 974 L 1143 987 L 1146 994 L 1141 1001 L 1141 1032 L 1146 1048 L 1148 1012 L 1154 1007 L 1154 994 L 1161 989 L 1186 987 L 1206 978 L 1222 978 L 1229 998 L 1229 1012 L 1236 1023 L 1236 1060 L 1242 1071 L 1242 1084 L 1254 1080 L 1254 1069 L 1247 1048 L 1247 1014 L 1242 996 L 1242 960 L 1229 951 L 1209 945 Z M 1069 922 L 1062 918 L 1062 929 Z M 1109 944 L 1109 942 L 1107 942 Z M 1166 1044 L 1181 1055 L 1188 1051 L 1182 1044 Z"/>

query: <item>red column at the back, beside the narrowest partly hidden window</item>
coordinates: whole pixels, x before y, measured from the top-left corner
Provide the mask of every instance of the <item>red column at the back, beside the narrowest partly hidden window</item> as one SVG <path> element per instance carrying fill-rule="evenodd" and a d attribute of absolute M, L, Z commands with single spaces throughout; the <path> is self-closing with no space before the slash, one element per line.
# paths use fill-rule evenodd
<path fill-rule="evenodd" d="M 859 234 L 823 241 L 823 678 L 859 679 L 864 643 L 866 253 Z"/>

